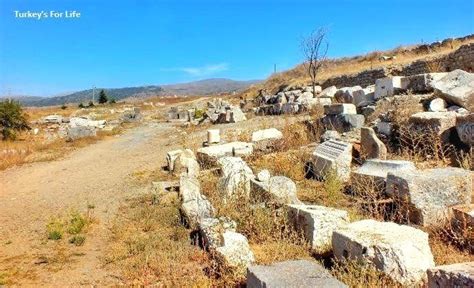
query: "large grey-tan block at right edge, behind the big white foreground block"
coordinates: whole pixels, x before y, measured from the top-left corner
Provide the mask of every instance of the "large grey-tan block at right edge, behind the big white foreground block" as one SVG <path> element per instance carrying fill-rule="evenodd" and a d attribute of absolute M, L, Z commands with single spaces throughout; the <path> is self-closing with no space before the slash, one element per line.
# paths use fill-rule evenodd
<path fill-rule="evenodd" d="M 445 223 L 449 207 L 471 202 L 471 172 L 460 168 L 394 171 L 387 175 L 387 193 L 399 202 L 411 223 L 438 226 Z"/>

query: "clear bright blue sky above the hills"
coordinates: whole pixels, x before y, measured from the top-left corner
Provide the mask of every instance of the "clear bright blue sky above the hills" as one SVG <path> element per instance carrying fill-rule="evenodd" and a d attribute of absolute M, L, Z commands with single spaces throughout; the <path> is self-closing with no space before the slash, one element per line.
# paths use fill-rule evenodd
<path fill-rule="evenodd" d="M 15 18 L 28 10 L 81 16 Z M 330 57 L 363 54 L 474 33 L 474 0 L 0 0 L 0 95 L 264 79 L 320 26 Z"/>

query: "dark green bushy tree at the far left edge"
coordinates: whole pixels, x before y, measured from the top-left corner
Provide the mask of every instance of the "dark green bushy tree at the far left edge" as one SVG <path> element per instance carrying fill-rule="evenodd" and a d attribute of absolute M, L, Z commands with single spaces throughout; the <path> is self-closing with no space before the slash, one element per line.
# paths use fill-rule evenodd
<path fill-rule="evenodd" d="M 5 100 L 0 102 L 0 130 L 3 140 L 15 140 L 16 132 L 28 130 L 30 126 L 20 102 Z"/>

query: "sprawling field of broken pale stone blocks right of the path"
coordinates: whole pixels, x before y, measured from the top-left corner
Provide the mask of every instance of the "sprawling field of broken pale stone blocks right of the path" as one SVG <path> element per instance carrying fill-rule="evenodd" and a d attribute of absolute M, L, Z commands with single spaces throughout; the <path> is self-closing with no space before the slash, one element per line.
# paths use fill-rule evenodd
<path fill-rule="evenodd" d="M 367 87 L 317 86 L 315 91 L 316 95 L 311 86 L 286 87 L 276 95 L 260 95 L 250 109 L 221 99 L 200 108 L 173 108 L 169 121 L 183 127 L 217 126 L 207 131 L 207 139 L 195 151 L 168 152 L 166 166 L 179 179 L 177 192 L 157 182 L 154 193 L 177 193 L 182 225 L 219 263 L 244 275 L 247 287 L 347 286 L 314 258 L 257 264 L 245 233 L 234 219 L 218 213 L 215 206 L 221 203 L 205 196 L 203 173 L 218 174 L 222 203 L 244 201 L 286 215 L 313 255 L 341 265 L 361 263 L 403 287 L 474 287 L 474 262 L 437 266 L 429 242 L 430 231 L 449 227 L 464 235 L 463 249 L 474 253 L 474 74 L 454 70 L 393 76 Z M 397 114 L 393 107 L 399 103 L 411 103 L 413 111 Z M 249 117 L 306 112 L 311 119 L 305 125 L 319 131 L 320 137 L 309 148 L 295 147 L 310 151 L 304 167 L 292 169 L 304 170 L 314 182 L 342 183 L 344 193 L 369 207 L 362 213 L 365 218 L 355 219 L 338 207 L 305 203 L 295 179 L 249 164 L 252 157 L 278 152 L 288 137 L 281 128 L 246 127 L 248 137 L 242 141 L 226 142 L 220 135 L 223 126 L 218 124 L 245 126 Z M 79 121 L 70 120 L 73 128 L 71 123 Z M 104 125 L 88 123 L 85 127 Z M 383 216 L 371 215 L 370 207 L 383 210 Z"/>

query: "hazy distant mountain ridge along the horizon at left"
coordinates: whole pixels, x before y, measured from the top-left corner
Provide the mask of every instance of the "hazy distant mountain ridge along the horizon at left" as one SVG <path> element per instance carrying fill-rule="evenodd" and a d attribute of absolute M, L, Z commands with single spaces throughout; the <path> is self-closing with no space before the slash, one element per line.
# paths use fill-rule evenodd
<path fill-rule="evenodd" d="M 243 90 L 252 84 L 260 81 L 235 81 L 223 78 L 206 79 L 195 82 L 168 84 L 168 85 L 152 85 L 125 88 L 96 88 L 95 99 L 98 99 L 100 90 L 104 89 L 109 97 L 116 100 L 124 98 L 145 98 L 150 96 L 173 96 L 173 95 L 190 95 L 201 96 L 219 93 L 230 93 Z M 36 97 L 36 96 L 12 96 L 26 106 L 52 106 L 67 103 L 87 103 L 92 99 L 93 90 L 83 90 L 67 95 L 53 97 Z M 3 97 L 6 98 L 6 97 Z M 1 99 L 1 98 L 0 98 Z"/>

